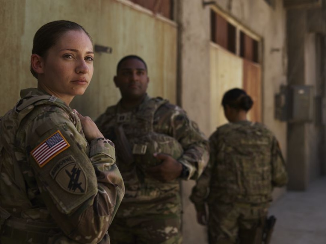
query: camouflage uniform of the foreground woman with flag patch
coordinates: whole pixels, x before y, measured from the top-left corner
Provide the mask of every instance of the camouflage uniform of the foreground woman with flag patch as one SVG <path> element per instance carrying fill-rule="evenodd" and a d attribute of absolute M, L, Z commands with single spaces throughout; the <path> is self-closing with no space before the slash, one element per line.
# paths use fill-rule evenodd
<path fill-rule="evenodd" d="M 62 100 L 21 97 L 0 121 L 0 243 L 110 243 L 124 195 L 113 143 L 88 144 Z"/>

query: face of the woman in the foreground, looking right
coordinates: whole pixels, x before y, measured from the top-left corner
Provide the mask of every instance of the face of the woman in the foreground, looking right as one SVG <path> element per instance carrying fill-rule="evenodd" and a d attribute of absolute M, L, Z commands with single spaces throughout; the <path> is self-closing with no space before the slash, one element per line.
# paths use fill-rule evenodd
<path fill-rule="evenodd" d="M 85 92 L 93 76 L 93 44 L 79 30 L 64 33 L 43 58 L 39 85 L 67 104 Z"/>

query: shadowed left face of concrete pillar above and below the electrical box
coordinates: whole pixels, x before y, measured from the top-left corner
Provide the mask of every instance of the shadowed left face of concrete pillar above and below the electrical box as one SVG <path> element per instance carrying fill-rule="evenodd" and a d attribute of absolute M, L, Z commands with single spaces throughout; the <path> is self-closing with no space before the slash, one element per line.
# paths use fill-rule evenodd
<path fill-rule="evenodd" d="M 304 85 L 304 38 L 306 32 L 305 11 L 289 10 L 287 13 L 289 85 Z M 305 158 L 303 123 L 288 124 L 289 189 L 304 190 L 308 182 L 308 165 Z"/>

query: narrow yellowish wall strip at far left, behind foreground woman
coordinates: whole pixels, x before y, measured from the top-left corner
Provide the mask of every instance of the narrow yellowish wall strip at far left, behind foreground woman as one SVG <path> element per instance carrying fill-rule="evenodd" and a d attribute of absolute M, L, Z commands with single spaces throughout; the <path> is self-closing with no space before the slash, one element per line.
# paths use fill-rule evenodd
<path fill-rule="evenodd" d="M 35 86 L 36 82 L 32 82 L 32 75 L 29 75 L 31 80 L 29 84 L 25 85 L 27 81 L 22 81 L 29 72 L 29 59 L 25 59 L 24 63 L 23 53 L 31 52 L 30 46 L 23 47 L 21 43 L 21 36 L 24 33 L 25 2 L 18 4 L 16 1 L 0 1 L 0 4 L 0 55 L 6 57 L 0 60 L 2 74 L 0 116 L 2 116 L 17 102 L 20 88 Z M 23 64 L 26 64 L 26 67 Z"/>

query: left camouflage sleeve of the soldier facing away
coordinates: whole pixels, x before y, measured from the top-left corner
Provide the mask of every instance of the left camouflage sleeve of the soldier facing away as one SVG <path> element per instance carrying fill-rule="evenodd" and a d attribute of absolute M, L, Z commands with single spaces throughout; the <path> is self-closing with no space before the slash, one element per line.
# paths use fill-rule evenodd
<path fill-rule="evenodd" d="M 205 201 L 209 193 L 212 171 L 216 164 L 216 145 L 215 141 L 210 138 L 210 157 L 206 168 L 200 177 L 196 180 L 195 186 L 192 188 L 189 199 L 194 203 L 198 212 L 205 209 Z"/>

